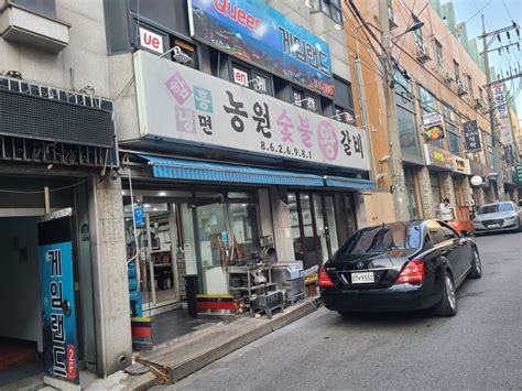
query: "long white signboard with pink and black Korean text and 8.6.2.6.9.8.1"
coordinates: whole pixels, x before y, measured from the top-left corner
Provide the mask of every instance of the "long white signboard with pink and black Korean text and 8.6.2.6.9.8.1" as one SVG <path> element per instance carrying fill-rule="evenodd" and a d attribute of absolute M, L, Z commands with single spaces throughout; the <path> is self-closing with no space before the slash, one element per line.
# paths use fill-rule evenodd
<path fill-rule="evenodd" d="M 150 53 L 134 53 L 142 137 L 370 170 L 366 132 Z"/>

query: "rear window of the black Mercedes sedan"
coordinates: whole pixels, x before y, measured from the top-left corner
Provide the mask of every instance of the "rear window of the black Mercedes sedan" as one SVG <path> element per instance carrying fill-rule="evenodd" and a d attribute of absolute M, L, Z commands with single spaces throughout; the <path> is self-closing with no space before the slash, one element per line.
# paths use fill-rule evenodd
<path fill-rule="evenodd" d="M 421 227 L 396 222 L 361 229 L 348 239 L 334 258 L 394 249 L 417 249 L 420 246 Z"/>

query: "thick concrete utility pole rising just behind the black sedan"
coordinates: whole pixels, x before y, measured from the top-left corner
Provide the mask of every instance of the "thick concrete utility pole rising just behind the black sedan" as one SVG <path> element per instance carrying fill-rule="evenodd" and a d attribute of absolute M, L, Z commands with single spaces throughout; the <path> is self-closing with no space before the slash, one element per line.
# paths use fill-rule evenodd
<path fill-rule="evenodd" d="M 393 75 L 391 67 L 391 37 L 390 37 L 390 17 L 388 14 L 388 1 L 379 0 L 379 22 L 382 30 L 381 46 L 382 65 L 384 67 L 383 88 L 384 100 L 387 102 L 387 124 L 388 124 L 388 142 L 390 151 L 390 175 L 393 192 L 393 203 L 395 206 L 395 219 L 398 221 L 410 220 L 410 211 L 407 209 L 407 193 L 404 181 L 404 167 L 402 165 L 401 140 L 399 138 L 399 129 L 395 113 L 395 102 L 393 99 L 394 91 L 390 87 L 390 75 Z"/>

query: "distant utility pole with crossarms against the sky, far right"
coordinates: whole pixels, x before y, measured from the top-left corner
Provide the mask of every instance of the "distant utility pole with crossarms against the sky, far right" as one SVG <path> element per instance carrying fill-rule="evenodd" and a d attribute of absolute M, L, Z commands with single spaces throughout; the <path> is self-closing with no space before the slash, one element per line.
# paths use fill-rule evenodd
<path fill-rule="evenodd" d="M 492 137 L 492 144 L 493 144 L 493 166 L 494 171 L 497 172 L 497 187 L 499 191 L 499 200 L 504 199 L 504 172 L 503 172 L 503 159 L 502 154 L 500 151 L 500 138 L 497 137 L 497 129 L 494 126 L 494 100 L 491 91 L 491 86 L 493 83 L 491 83 L 491 75 L 489 72 L 489 51 L 488 50 L 488 37 L 489 36 L 496 36 L 502 32 L 508 32 L 512 29 L 519 29 L 518 25 L 513 22 L 513 25 L 494 30 L 489 33 L 486 32 L 486 22 L 485 18 L 482 15 L 482 35 L 480 37 L 482 39 L 482 54 L 483 54 L 483 62 L 486 65 L 486 86 L 487 86 L 487 93 L 488 93 L 488 111 L 489 111 L 489 122 L 491 126 L 491 137 Z M 516 30 L 516 34 L 519 34 L 519 30 Z M 497 50 L 497 48 L 496 48 Z M 509 109 L 508 109 L 509 110 Z M 509 111 L 508 111 L 509 115 Z M 511 116 L 510 116 L 511 117 Z M 511 120 L 511 119 L 510 119 Z"/>

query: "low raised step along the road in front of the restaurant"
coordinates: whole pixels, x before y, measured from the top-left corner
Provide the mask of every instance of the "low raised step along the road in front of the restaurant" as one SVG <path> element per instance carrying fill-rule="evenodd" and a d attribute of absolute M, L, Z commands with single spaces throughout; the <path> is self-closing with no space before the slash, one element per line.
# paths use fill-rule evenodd
<path fill-rule="evenodd" d="M 170 384 L 194 373 L 219 358 L 316 311 L 316 300 L 296 304 L 267 317 L 241 317 L 175 338 L 164 347 L 141 352 L 133 366 L 93 383 L 87 390 L 145 390 Z M 141 362 L 141 363 L 140 363 Z M 139 373 L 139 374 L 131 374 Z"/>

